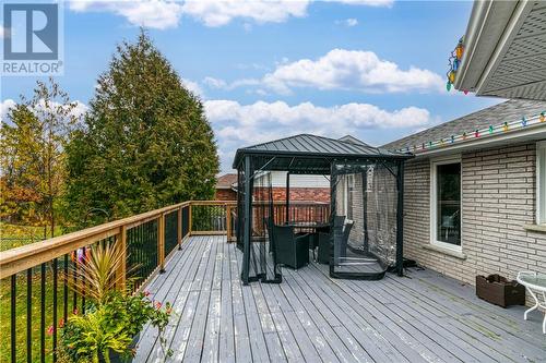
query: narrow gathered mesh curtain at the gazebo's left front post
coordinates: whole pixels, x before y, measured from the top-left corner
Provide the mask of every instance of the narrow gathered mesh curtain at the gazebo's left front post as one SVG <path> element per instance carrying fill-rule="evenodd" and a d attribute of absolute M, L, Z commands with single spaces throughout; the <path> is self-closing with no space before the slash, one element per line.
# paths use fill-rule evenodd
<path fill-rule="evenodd" d="M 257 158 L 250 161 L 246 159 L 238 170 L 237 246 L 244 252 L 241 279 L 244 282 L 259 280 L 278 283 L 282 276 L 276 264 L 275 249 L 271 245 L 272 179 L 270 172 L 259 170 L 261 164 L 263 160 Z M 246 178 L 247 174 L 249 178 Z M 245 245 L 245 223 L 250 227 L 248 246 Z"/>

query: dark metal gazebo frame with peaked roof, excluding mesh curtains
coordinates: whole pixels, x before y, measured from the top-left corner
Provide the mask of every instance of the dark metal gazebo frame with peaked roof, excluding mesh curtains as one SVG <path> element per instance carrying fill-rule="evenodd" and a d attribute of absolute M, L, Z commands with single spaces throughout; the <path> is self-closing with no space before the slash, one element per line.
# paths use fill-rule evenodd
<path fill-rule="evenodd" d="M 396 257 L 395 271 L 403 275 L 403 191 L 404 191 L 404 161 L 412 158 L 412 154 L 396 153 L 371 147 L 364 143 L 345 142 L 310 134 L 299 134 L 286 138 L 272 141 L 237 149 L 233 167 L 238 170 L 238 218 L 236 226 L 237 244 L 244 252 L 241 280 L 248 285 L 252 280 L 265 279 L 261 276 L 249 276 L 251 226 L 252 226 L 252 187 L 253 179 L 259 172 L 286 171 L 286 211 L 289 208 L 290 174 L 322 174 L 333 176 L 333 166 L 339 162 L 363 165 L 369 162 L 394 165 L 391 170 L 396 179 Z M 331 210 L 335 210 L 335 185 L 331 182 Z M 288 216 L 288 213 L 286 213 Z M 331 242 L 333 254 L 333 241 Z M 275 263 L 275 262 L 274 262 Z M 275 266 L 276 270 L 276 266 Z M 384 275 L 384 273 L 383 273 Z M 336 274 L 330 264 L 330 276 L 355 279 L 373 279 L 358 274 Z M 278 281 L 276 281 L 278 282 Z"/>

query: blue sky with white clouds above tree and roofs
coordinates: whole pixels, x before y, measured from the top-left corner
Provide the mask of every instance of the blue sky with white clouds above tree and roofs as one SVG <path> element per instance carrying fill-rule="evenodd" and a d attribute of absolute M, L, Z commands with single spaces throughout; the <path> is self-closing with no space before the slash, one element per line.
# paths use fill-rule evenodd
<path fill-rule="evenodd" d="M 84 110 L 116 45 L 144 26 L 203 101 L 229 172 L 238 147 L 298 133 L 380 146 L 501 101 L 446 89 L 471 9 L 472 1 L 68 1 L 64 74 L 56 81 Z M 36 81 L 1 78 L 2 120 Z"/>

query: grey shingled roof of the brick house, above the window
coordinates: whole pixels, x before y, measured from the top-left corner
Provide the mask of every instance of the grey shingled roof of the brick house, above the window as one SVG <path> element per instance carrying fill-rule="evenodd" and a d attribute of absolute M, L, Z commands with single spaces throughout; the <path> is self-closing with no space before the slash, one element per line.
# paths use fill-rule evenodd
<path fill-rule="evenodd" d="M 499 126 L 505 122 L 519 122 L 522 117 L 537 118 L 544 111 L 546 111 L 546 101 L 512 99 L 390 142 L 381 147 L 390 150 L 410 147 L 413 152 L 414 146 L 428 145 L 430 142 L 438 142 L 442 138 L 449 140 L 452 135 L 471 134 L 475 130 L 488 129 L 490 125 Z M 541 126 L 546 126 L 546 124 Z M 508 136 L 510 131 L 502 134 Z"/>

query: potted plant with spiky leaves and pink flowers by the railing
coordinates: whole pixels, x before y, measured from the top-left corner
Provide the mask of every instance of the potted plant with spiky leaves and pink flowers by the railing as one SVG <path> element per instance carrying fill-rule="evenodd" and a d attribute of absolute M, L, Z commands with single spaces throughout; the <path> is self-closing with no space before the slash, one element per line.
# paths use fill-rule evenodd
<path fill-rule="evenodd" d="M 70 274 L 80 278 L 71 283 L 88 299 L 86 313 L 74 313 L 63 324 L 58 356 L 61 362 L 126 362 L 135 352 L 140 331 L 151 324 L 159 331 L 159 343 L 165 356 L 170 355 L 163 337 L 171 314 L 171 306 L 150 300 L 149 293 L 131 293 L 119 286 L 119 265 L 123 253 L 114 243 L 97 244 L 73 261 L 76 268 Z M 74 279 L 72 279 L 74 281 Z"/>

